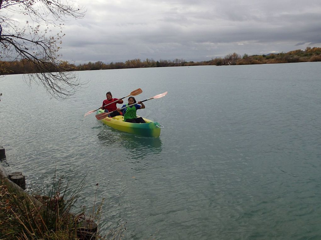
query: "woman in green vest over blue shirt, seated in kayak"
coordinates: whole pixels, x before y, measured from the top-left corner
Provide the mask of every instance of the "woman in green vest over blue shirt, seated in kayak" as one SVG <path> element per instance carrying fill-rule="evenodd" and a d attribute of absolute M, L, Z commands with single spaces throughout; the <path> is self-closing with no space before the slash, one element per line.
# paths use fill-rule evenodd
<path fill-rule="evenodd" d="M 126 106 L 129 106 L 129 105 L 132 105 L 134 103 L 136 103 L 135 98 L 134 97 L 129 97 L 128 98 L 128 103 L 126 105 L 123 105 L 122 108 L 124 108 Z M 128 108 L 124 108 L 124 109 L 121 110 L 122 113 L 123 113 L 125 122 L 128 122 L 128 123 L 146 123 L 142 117 L 137 117 L 137 115 L 136 115 L 137 109 L 145 108 L 145 105 L 141 101 L 139 101 L 138 103 L 142 104 L 142 105 L 135 104 L 133 106 L 130 106 Z M 119 108 L 117 108 L 117 111 L 118 112 L 120 111 Z"/>

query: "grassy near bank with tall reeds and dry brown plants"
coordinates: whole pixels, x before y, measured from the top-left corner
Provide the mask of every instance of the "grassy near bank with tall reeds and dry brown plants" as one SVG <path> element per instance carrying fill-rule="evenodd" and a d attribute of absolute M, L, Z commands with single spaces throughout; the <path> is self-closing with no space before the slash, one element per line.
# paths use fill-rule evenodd
<path fill-rule="evenodd" d="M 15 185 L 0 163 L 0 239 L 121 239 L 125 224 L 108 233 L 101 233 L 98 226 L 104 202 L 96 202 L 98 183 L 94 205 L 75 207 L 86 176 L 74 186 L 68 181 L 63 187 L 55 171 L 51 184 L 44 183 L 36 195 Z"/>

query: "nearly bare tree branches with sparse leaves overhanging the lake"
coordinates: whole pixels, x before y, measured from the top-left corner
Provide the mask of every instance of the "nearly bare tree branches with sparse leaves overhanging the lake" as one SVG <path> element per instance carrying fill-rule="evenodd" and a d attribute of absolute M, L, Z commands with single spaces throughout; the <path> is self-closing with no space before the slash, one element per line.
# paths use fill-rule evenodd
<path fill-rule="evenodd" d="M 64 23 L 84 14 L 73 0 L 0 0 L 0 59 L 20 60 L 24 68 L 33 68 L 35 73 L 25 75 L 24 80 L 42 84 L 54 98 L 73 95 L 84 83 L 64 68 L 68 64 L 58 51 L 65 36 Z M 27 20 L 19 23 L 18 15 Z M 59 29 L 56 34 L 51 30 L 55 28 Z"/>

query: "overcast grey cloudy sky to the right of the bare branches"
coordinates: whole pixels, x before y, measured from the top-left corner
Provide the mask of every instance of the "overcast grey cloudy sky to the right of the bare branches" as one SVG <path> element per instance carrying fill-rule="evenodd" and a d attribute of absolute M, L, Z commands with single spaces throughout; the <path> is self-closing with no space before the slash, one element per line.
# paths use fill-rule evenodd
<path fill-rule="evenodd" d="M 320 0 L 77 0 L 63 60 L 211 60 L 321 47 Z"/>

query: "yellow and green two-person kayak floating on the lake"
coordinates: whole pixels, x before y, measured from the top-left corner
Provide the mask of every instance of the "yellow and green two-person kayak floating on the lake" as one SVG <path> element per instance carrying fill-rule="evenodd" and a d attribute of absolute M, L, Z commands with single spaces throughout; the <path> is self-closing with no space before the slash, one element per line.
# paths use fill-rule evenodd
<path fill-rule="evenodd" d="M 104 110 L 99 109 L 97 114 L 103 113 Z M 144 136 L 144 137 L 153 137 L 158 138 L 160 136 L 160 129 L 164 128 L 157 122 L 153 122 L 149 119 L 143 118 L 146 123 L 127 123 L 124 122 L 123 116 L 115 116 L 115 117 L 106 117 L 102 120 L 102 124 L 117 129 L 122 132 L 134 133 L 136 135 Z"/>

